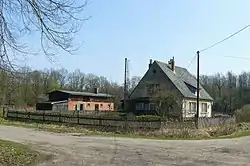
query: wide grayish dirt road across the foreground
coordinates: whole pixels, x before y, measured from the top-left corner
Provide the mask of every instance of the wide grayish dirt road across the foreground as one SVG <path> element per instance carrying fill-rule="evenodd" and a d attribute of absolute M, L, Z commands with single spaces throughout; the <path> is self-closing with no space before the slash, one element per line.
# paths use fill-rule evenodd
<path fill-rule="evenodd" d="M 250 166 L 250 137 L 206 141 L 146 140 L 56 134 L 0 126 L 0 139 L 52 154 L 39 166 Z"/>

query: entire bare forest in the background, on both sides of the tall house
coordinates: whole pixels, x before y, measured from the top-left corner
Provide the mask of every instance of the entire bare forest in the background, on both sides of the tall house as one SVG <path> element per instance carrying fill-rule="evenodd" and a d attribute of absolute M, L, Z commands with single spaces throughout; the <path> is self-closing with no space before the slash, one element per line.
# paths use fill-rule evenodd
<path fill-rule="evenodd" d="M 137 85 L 140 76 L 129 80 L 129 91 Z M 250 100 L 250 72 L 239 75 L 229 71 L 212 76 L 202 75 L 200 81 L 214 98 L 213 109 L 221 113 L 234 113 Z M 46 92 L 52 89 L 91 92 L 99 87 L 100 92 L 114 94 L 116 104 L 123 97 L 123 85 L 111 82 L 105 76 L 83 73 L 79 69 L 68 72 L 66 69 L 44 69 L 41 71 L 24 67 L 18 72 L 0 71 L 1 105 L 17 108 L 32 107 L 37 102 L 47 100 Z"/>

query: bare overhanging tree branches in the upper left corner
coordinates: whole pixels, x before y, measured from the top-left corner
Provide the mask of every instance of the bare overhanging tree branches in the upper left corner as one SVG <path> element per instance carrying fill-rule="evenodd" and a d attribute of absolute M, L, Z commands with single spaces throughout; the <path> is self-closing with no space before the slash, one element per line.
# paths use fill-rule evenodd
<path fill-rule="evenodd" d="M 87 0 L 1 0 L 0 1 L 0 68 L 13 70 L 18 67 L 13 59 L 31 52 L 22 42 L 31 32 L 38 32 L 40 45 L 49 58 L 64 50 L 76 50 L 74 34 L 80 23 L 88 18 L 78 18 Z"/>

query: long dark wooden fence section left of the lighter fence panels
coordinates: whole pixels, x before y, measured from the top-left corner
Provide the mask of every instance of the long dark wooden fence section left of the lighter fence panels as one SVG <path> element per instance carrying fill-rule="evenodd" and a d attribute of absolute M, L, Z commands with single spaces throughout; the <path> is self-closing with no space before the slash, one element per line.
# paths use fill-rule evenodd
<path fill-rule="evenodd" d="M 96 115 L 83 115 L 77 113 L 60 112 L 24 112 L 7 111 L 6 118 L 18 121 L 36 121 L 44 123 L 65 123 L 69 125 L 82 125 L 89 127 L 106 128 L 133 128 L 133 129 L 159 129 L 161 121 L 139 121 L 134 119 L 125 119 L 119 116 L 98 117 Z"/>

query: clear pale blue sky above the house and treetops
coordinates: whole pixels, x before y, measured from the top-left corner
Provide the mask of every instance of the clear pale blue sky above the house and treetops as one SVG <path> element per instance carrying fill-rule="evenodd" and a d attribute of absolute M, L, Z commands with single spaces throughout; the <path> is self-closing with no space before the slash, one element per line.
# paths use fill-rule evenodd
<path fill-rule="evenodd" d="M 81 0 L 78 0 L 80 3 Z M 129 59 L 129 76 L 143 76 L 150 59 L 187 68 L 198 50 L 250 24 L 249 0 L 90 0 L 75 42 L 83 45 L 75 55 L 57 55 L 51 63 L 42 53 L 28 56 L 34 69 L 80 69 L 123 82 L 124 58 Z M 39 39 L 30 38 L 39 48 Z M 200 73 L 249 71 L 250 28 L 200 54 Z M 249 57 L 249 59 L 230 58 Z M 196 61 L 188 70 L 196 73 Z"/>

